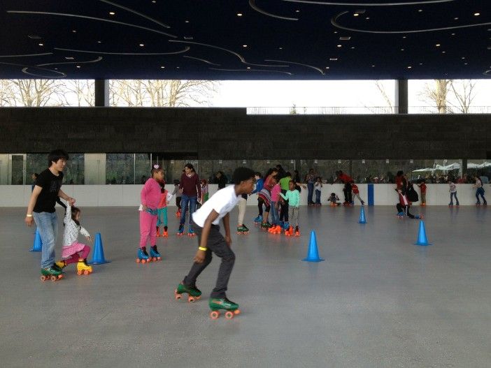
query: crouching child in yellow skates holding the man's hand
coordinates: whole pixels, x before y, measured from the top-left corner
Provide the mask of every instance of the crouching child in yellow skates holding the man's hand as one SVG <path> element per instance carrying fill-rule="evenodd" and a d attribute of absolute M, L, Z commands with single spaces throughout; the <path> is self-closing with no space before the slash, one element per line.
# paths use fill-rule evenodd
<path fill-rule="evenodd" d="M 90 246 L 78 242 L 78 233 L 81 233 L 92 242 L 92 237 L 85 228 L 80 226 L 80 209 L 71 207 L 70 203 L 66 203 L 66 213 L 63 220 L 63 249 L 62 258 L 56 265 L 64 268 L 71 263 L 77 264 L 77 274 L 91 274 L 92 266 L 87 265 L 87 256 L 90 253 Z"/>

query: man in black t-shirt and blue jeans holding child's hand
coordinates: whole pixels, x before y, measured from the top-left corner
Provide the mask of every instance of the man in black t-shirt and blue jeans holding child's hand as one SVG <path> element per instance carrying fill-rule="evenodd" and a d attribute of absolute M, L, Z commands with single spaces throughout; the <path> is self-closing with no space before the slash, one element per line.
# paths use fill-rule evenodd
<path fill-rule="evenodd" d="M 75 200 L 67 196 L 61 189 L 63 170 L 68 154 L 62 149 L 56 149 L 48 155 L 49 168 L 41 172 L 36 179 L 36 185 L 31 194 L 24 222 L 32 226 L 35 221 L 43 247 L 41 251 L 41 274 L 45 277 L 58 276 L 62 270 L 55 265 L 55 244 L 58 235 L 58 221 L 55 203 L 58 197 L 73 205 Z"/>

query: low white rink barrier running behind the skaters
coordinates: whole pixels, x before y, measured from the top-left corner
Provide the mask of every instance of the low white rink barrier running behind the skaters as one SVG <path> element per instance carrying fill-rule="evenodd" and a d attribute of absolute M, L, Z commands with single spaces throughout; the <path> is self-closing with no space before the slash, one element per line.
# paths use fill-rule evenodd
<path fill-rule="evenodd" d="M 394 191 L 394 184 L 357 184 L 360 189 L 360 197 L 365 203 L 368 201 L 368 186 L 373 185 L 373 205 L 395 205 L 398 201 L 397 193 Z M 420 196 L 420 189 L 414 186 Z M 77 200 L 80 207 L 124 207 L 140 204 L 140 191 L 142 185 L 69 185 L 62 186 L 62 190 L 69 196 Z M 166 189 L 172 193 L 173 184 L 167 184 Z M 217 191 L 216 184 L 209 184 L 210 196 Z M 485 197 L 491 199 L 491 185 L 484 184 Z M 329 205 L 327 198 L 331 193 L 336 193 L 340 201 L 343 202 L 343 184 L 322 184 L 322 205 Z M 0 186 L 0 207 L 27 207 L 31 196 L 31 186 L 27 185 L 1 185 Z M 489 198 L 488 198 L 489 197 Z M 460 205 L 474 205 L 476 203 L 476 189 L 472 184 L 457 184 L 457 198 Z M 420 196 L 421 199 L 421 196 Z M 315 191 L 313 194 L 315 201 Z M 426 194 L 427 205 L 448 205 L 450 193 L 448 184 L 427 184 Z M 302 189 L 300 193 L 301 205 L 307 204 L 307 189 Z M 257 206 L 257 195 L 252 194 L 247 201 L 250 206 Z M 454 203 L 455 204 L 455 203 Z M 360 201 L 355 199 L 355 205 L 359 206 Z M 420 205 L 415 202 L 413 205 Z M 176 207 L 176 200 L 171 200 L 170 207 Z"/>

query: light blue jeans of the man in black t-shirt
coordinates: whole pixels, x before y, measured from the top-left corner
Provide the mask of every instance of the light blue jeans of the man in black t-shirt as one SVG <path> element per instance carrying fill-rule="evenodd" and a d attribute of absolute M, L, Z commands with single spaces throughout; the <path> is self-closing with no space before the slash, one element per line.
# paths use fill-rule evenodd
<path fill-rule="evenodd" d="M 56 212 L 32 212 L 34 222 L 41 235 L 41 267 L 50 267 L 55 263 L 55 244 L 58 236 L 58 219 Z"/>

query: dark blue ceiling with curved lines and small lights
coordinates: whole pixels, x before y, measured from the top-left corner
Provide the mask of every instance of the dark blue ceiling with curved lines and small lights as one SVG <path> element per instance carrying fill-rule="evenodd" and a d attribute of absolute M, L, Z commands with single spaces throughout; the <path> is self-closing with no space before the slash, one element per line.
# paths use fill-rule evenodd
<path fill-rule="evenodd" d="M 490 0 L 1 0 L 0 24 L 0 78 L 491 77 Z"/>

